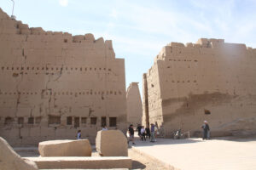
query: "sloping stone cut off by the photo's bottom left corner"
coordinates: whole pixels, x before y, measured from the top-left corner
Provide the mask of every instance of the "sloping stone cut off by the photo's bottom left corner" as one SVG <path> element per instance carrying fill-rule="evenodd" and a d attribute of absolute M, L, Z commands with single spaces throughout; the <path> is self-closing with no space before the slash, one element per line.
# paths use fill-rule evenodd
<path fill-rule="evenodd" d="M 38 167 L 33 161 L 22 159 L 6 140 L 0 137 L 0 169 L 36 170 Z"/>

